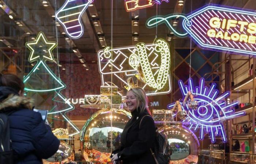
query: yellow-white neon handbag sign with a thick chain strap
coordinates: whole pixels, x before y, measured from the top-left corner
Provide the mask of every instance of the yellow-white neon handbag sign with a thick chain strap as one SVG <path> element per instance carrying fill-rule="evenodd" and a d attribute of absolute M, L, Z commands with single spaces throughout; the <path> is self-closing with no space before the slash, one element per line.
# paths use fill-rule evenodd
<path fill-rule="evenodd" d="M 146 90 L 147 95 L 167 94 L 171 91 L 170 49 L 163 39 L 153 44 L 138 43 L 136 46 L 113 49 L 106 47 L 98 51 L 98 62 L 102 85 L 111 81 L 113 75 L 113 83 L 124 89 L 128 86 L 129 77 L 133 77 L 133 80 L 143 77 L 140 81 L 137 79 L 137 83 Z"/>

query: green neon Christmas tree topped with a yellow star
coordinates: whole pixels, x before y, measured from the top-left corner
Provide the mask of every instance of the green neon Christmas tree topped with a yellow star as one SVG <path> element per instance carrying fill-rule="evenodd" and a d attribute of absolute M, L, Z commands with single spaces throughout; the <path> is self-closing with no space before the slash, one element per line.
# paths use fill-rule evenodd
<path fill-rule="evenodd" d="M 70 136 L 78 134 L 80 130 L 67 117 L 66 113 L 74 110 L 74 105 L 66 100 L 61 90 L 66 85 L 58 78 L 46 64 L 46 60 L 54 62 L 52 50 L 57 46 L 56 42 L 47 40 L 43 32 L 39 32 L 34 42 L 27 42 L 29 48 L 29 62 L 36 61 L 36 65 L 24 78 L 27 96 L 36 101 L 36 109 L 47 109 L 48 117 L 52 120 L 65 120 L 71 125 Z M 53 63 L 55 65 L 55 63 Z M 31 64 L 33 65 L 33 64 Z"/>

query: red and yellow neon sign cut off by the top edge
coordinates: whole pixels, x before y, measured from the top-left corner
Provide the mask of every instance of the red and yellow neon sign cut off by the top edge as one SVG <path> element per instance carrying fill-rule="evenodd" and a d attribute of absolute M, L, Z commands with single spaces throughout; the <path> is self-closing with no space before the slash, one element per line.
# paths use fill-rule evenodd
<path fill-rule="evenodd" d="M 124 0 L 126 11 L 134 11 L 136 9 L 146 8 L 154 4 L 161 4 L 162 1 L 169 2 L 169 0 Z"/>

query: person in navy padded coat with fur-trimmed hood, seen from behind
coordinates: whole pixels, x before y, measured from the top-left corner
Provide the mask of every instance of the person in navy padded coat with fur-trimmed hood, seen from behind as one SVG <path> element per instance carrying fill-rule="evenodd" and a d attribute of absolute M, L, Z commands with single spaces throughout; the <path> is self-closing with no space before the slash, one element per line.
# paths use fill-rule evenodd
<path fill-rule="evenodd" d="M 32 108 L 32 99 L 23 97 L 24 83 L 16 75 L 0 74 L 0 112 L 9 114 L 10 139 L 15 164 L 42 164 L 59 149 L 55 137 Z"/>

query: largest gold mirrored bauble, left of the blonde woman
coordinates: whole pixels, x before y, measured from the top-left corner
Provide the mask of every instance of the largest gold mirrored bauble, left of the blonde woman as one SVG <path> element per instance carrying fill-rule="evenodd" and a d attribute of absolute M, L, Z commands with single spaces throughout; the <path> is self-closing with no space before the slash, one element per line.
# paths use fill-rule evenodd
<path fill-rule="evenodd" d="M 80 148 L 86 161 L 110 162 L 131 113 L 123 109 L 102 109 L 89 118 L 80 134 Z M 112 125 L 112 126 L 111 126 Z"/>

